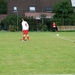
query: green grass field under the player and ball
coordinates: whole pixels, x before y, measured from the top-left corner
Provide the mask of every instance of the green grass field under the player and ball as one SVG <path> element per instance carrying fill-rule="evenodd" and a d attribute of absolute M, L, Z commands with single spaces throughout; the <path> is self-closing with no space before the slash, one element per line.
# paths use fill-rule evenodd
<path fill-rule="evenodd" d="M 56 36 L 56 34 L 59 36 Z M 75 74 L 75 32 L 0 32 L 0 75 Z"/>

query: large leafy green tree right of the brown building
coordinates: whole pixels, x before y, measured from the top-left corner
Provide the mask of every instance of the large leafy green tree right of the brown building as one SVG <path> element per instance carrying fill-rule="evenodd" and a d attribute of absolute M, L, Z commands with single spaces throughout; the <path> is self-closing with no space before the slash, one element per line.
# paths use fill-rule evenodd
<path fill-rule="evenodd" d="M 61 23 L 64 25 L 64 20 L 71 19 L 74 10 L 69 0 L 63 0 L 54 5 L 53 12 L 55 13 L 53 18 L 62 21 Z"/>

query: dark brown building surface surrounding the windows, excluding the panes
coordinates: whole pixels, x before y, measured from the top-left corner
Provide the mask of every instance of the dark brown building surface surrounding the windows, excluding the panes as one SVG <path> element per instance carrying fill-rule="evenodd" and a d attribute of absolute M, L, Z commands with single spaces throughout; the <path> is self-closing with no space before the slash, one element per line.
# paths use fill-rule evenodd
<path fill-rule="evenodd" d="M 18 7 L 18 14 L 24 15 L 25 12 L 29 12 L 29 7 L 35 7 L 36 12 L 45 11 L 46 7 L 53 7 L 54 3 L 61 0 L 7 0 L 8 1 L 8 15 L 14 13 L 14 7 Z"/>

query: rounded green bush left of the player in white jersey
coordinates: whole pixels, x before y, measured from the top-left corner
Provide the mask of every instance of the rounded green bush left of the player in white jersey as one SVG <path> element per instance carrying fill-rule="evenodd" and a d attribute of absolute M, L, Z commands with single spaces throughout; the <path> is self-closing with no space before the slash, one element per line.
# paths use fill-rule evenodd
<path fill-rule="evenodd" d="M 4 30 L 17 31 L 21 30 L 21 16 L 18 16 L 18 27 L 17 27 L 17 16 L 11 15 L 7 16 L 5 19 L 1 21 L 1 25 Z"/>

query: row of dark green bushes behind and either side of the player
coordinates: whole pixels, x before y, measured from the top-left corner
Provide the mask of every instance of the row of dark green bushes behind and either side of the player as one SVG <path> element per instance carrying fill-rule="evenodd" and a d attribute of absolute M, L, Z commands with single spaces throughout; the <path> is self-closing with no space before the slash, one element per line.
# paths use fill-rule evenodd
<path fill-rule="evenodd" d="M 4 27 L 7 27 L 7 30 L 9 31 L 21 31 L 22 26 L 21 26 L 21 16 L 18 16 L 18 26 L 17 26 L 17 16 L 12 15 L 12 16 L 7 16 L 5 19 L 1 21 L 1 25 Z M 24 19 L 28 22 L 29 24 L 29 30 L 30 31 L 47 31 L 50 30 L 51 28 L 51 21 L 49 19 L 44 19 L 44 23 L 41 24 L 41 20 L 37 21 L 33 17 L 24 17 Z"/>

